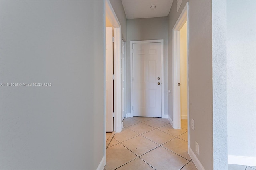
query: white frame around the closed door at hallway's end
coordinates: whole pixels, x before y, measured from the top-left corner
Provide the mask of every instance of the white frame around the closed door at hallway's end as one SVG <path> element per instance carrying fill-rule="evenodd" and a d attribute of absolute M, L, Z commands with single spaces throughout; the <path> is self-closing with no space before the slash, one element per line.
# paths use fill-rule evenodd
<path fill-rule="evenodd" d="M 164 115 L 164 40 L 156 39 L 156 40 L 144 40 L 144 41 L 131 41 L 130 46 L 130 61 L 131 61 L 131 115 L 129 117 L 133 117 L 133 55 L 132 55 L 132 47 L 135 43 L 161 43 L 161 116 L 166 118 Z"/>

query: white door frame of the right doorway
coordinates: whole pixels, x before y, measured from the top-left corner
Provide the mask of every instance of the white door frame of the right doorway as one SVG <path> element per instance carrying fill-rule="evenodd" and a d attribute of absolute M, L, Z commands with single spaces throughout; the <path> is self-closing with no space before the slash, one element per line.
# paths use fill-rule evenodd
<path fill-rule="evenodd" d="M 188 2 L 186 3 L 184 9 L 182 10 L 180 17 L 178 18 L 176 24 L 174 25 L 172 29 L 172 101 L 173 101 L 173 107 L 172 107 L 172 113 L 173 113 L 173 128 L 174 129 L 180 129 L 181 123 L 180 123 L 180 86 L 178 86 L 178 83 L 180 83 L 180 29 L 184 25 L 184 23 L 187 21 L 187 90 L 189 88 L 188 84 L 188 57 L 189 57 L 189 51 L 188 51 Z M 187 91 L 187 98 L 188 93 Z M 187 107 L 189 107 L 189 98 Z M 189 127 L 189 109 L 188 109 L 188 127 Z M 188 128 L 188 134 L 189 134 L 189 128 Z M 189 136 L 188 136 L 189 137 Z M 188 139 L 189 141 L 189 139 Z"/>

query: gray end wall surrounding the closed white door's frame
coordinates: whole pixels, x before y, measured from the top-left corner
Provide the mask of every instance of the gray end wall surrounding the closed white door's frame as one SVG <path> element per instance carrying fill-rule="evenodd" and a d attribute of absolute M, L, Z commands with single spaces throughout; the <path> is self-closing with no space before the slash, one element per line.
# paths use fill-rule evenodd
<path fill-rule="evenodd" d="M 164 114 L 168 114 L 168 17 L 127 20 L 127 112 L 131 113 L 130 41 L 164 39 Z"/>

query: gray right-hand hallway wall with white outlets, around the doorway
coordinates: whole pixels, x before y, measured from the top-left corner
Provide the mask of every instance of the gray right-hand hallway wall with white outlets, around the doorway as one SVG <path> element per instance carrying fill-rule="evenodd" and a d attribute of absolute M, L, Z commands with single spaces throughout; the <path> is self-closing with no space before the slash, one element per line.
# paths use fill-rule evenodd
<path fill-rule="evenodd" d="M 168 84 L 172 89 L 172 29 L 186 1 L 177 12 L 176 0 L 169 13 L 168 29 Z M 189 117 L 194 119 L 195 130 L 190 128 L 190 148 L 205 169 L 213 169 L 212 130 L 212 2 L 189 2 Z M 172 117 L 172 93 L 169 95 L 169 116 Z M 191 123 L 190 123 L 191 124 Z"/>

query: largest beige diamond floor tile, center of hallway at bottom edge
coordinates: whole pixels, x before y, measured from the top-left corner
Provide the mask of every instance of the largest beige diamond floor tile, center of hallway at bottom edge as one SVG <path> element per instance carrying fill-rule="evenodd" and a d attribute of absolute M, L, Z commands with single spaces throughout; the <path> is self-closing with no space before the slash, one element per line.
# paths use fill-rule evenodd
<path fill-rule="evenodd" d="M 140 158 L 157 170 L 179 170 L 189 161 L 163 147 L 158 147 Z"/>

